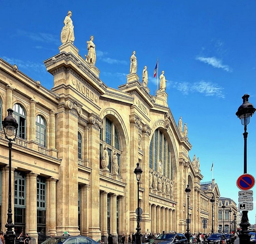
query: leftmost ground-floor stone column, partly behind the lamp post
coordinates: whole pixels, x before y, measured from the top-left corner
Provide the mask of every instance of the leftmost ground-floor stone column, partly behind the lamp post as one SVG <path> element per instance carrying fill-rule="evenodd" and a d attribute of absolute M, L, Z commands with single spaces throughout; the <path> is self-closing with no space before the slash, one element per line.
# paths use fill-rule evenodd
<path fill-rule="evenodd" d="M 14 191 L 13 191 L 13 182 L 14 182 L 14 168 L 11 168 L 11 209 L 12 214 L 14 213 Z M 8 211 L 8 188 L 9 188 L 9 166 L 1 169 L 2 172 L 2 231 L 6 231 L 5 224 L 7 222 L 7 211 Z M 3 190 L 5 189 L 5 190 Z M 12 220 L 14 222 L 14 214 L 12 215 Z M 14 231 L 14 230 L 13 230 Z"/>

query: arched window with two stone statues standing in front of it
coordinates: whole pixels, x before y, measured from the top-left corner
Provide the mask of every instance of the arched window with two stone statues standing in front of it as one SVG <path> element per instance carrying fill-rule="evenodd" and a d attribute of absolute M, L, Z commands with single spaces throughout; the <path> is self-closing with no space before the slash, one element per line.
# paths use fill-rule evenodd
<path fill-rule="evenodd" d="M 120 136 L 117 130 L 117 126 L 109 118 L 104 118 L 103 120 L 103 129 L 100 130 L 100 145 L 99 145 L 99 160 L 100 167 L 102 161 L 102 152 L 104 147 L 107 147 L 108 150 L 108 169 L 110 172 L 113 170 L 113 155 L 116 153 L 117 156 L 117 165 L 118 165 L 118 174 L 121 164 L 121 145 L 120 145 Z"/>

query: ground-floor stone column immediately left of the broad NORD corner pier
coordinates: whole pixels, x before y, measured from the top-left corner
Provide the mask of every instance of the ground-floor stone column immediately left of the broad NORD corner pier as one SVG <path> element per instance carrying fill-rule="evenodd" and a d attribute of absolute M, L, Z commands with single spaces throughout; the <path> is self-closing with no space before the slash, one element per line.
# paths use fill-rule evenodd
<path fill-rule="evenodd" d="M 56 232 L 56 181 L 46 179 L 46 235 L 54 236 Z"/>

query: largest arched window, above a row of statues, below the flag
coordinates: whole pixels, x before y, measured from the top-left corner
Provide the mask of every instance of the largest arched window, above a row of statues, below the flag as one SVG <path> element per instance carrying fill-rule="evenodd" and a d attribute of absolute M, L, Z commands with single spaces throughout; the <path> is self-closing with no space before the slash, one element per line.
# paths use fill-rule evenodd
<path fill-rule="evenodd" d="M 163 132 L 157 129 L 149 145 L 149 167 L 157 171 L 159 164 L 163 167 L 163 176 L 172 180 L 170 146 Z"/>

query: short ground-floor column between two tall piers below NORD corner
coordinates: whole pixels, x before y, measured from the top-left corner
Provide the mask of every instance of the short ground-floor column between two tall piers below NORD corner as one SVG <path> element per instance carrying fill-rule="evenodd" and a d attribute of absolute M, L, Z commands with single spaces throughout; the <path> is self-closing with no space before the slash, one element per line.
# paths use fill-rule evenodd
<path fill-rule="evenodd" d="M 82 235 L 88 236 L 88 216 L 90 216 L 90 209 L 88 209 L 89 205 L 89 191 L 90 187 L 88 185 L 80 185 L 80 194 L 81 194 L 81 203 L 80 203 L 80 211 L 81 211 L 81 228 L 80 233 Z"/>

